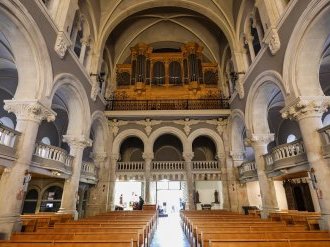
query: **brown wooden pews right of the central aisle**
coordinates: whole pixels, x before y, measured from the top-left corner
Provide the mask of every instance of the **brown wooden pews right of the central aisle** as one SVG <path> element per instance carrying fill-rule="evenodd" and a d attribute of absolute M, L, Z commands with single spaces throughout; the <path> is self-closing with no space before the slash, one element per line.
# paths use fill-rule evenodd
<path fill-rule="evenodd" d="M 182 211 L 180 216 L 192 247 L 330 247 L 328 231 L 310 230 L 302 220 L 278 220 L 275 214 L 267 220 L 223 210 Z"/>

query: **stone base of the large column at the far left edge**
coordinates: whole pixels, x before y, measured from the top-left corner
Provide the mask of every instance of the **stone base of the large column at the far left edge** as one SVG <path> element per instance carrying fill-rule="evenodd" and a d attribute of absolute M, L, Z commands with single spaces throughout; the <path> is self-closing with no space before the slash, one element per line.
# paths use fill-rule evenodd
<path fill-rule="evenodd" d="M 20 232 L 21 229 L 20 215 L 0 216 L 0 239 L 8 240 L 13 232 Z"/>

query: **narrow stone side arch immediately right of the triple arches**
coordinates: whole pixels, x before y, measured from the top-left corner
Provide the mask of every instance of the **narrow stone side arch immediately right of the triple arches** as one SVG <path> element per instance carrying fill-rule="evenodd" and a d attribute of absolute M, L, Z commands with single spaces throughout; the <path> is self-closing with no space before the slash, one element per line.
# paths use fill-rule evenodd
<path fill-rule="evenodd" d="M 243 131 L 245 129 L 244 113 L 239 109 L 232 111 L 229 119 L 229 141 L 232 152 L 244 153 Z"/>

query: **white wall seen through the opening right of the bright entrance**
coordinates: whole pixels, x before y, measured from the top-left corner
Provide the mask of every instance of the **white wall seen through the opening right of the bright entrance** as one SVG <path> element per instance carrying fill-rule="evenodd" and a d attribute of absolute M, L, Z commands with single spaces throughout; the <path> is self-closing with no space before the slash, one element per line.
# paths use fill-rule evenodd
<path fill-rule="evenodd" d="M 201 204 L 211 204 L 214 202 L 214 192 L 219 192 L 220 208 L 223 208 L 223 193 L 221 181 L 196 181 L 196 190 L 199 193 Z"/>

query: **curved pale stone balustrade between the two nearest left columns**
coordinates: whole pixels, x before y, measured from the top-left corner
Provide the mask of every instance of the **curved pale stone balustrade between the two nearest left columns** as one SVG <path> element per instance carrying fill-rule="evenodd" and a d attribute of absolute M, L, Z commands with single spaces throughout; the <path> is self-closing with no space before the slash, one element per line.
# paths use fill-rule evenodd
<path fill-rule="evenodd" d="M 73 157 L 69 155 L 67 151 L 59 147 L 37 143 L 34 155 L 40 158 L 61 162 L 70 168 L 72 167 Z"/>

